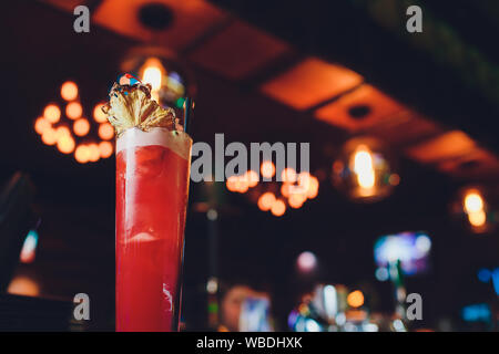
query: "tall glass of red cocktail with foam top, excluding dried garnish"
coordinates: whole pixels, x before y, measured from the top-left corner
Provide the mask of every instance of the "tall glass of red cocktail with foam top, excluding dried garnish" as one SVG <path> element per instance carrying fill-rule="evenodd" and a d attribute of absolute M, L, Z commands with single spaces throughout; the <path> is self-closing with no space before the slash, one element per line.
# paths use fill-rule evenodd
<path fill-rule="evenodd" d="M 191 147 L 162 127 L 116 140 L 116 331 L 177 331 Z"/>

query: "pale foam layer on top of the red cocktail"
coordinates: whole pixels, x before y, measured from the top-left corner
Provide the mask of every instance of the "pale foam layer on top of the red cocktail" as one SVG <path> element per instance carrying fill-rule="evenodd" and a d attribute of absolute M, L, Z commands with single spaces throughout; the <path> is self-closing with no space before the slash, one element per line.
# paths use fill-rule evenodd
<path fill-rule="evenodd" d="M 155 127 L 149 132 L 139 128 L 126 129 L 116 139 L 116 154 L 123 149 L 136 146 L 160 145 L 170 148 L 184 159 L 191 155 L 192 139 L 184 132 L 169 131 L 166 128 Z"/>

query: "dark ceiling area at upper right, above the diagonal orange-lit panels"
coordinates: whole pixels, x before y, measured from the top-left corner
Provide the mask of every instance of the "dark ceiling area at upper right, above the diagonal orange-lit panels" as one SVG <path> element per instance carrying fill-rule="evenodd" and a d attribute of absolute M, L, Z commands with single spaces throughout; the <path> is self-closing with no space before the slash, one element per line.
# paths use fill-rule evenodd
<path fill-rule="evenodd" d="M 414 2 L 424 11 L 419 34 L 405 30 L 405 1 L 213 2 L 307 53 L 347 65 L 403 103 L 498 150 L 491 118 L 499 108 L 497 2 Z M 482 62 L 491 74 L 487 85 L 473 75 L 485 70 L 477 67 Z"/>

